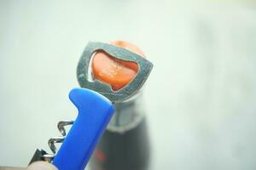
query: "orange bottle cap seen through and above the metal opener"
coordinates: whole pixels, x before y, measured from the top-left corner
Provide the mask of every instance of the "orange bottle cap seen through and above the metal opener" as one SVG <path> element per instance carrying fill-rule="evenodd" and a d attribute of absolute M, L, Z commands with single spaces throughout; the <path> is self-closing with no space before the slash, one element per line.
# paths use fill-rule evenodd
<path fill-rule="evenodd" d="M 110 43 L 144 56 L 142 50 L 130 42 Z M 117 91 L 137 75 L 138 65 L 135 62 L 116 59 L 103 51 L 97 51 L 92 59 L 92 71 L 95 79 L 111 85 L 112 89 Z"/>

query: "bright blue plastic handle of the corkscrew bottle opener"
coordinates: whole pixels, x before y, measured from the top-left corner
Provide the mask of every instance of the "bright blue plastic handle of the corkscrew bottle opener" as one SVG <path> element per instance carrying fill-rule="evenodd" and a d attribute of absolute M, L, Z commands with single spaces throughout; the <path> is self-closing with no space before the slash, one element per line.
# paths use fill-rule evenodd
<path fill-rule="evenodd" d="M 74 88 L 69 99 L 79 115 L 61 144 L 53 164 L 59 170 L 84 170 L 102 133 L 113 116 L 112 103 L 94 91 Z"/>

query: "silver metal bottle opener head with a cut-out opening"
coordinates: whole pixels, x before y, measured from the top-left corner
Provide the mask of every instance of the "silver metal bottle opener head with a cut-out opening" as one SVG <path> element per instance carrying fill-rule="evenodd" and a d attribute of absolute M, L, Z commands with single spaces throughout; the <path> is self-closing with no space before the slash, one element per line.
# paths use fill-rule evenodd
<path fill-rule="evenodd" d="M 92 75 L 90 61 L 97 50 L 103 50 L 105 53 L 116 59 L 137 63 L 137 75 L 131 80 L 131 82 L 125 85 L 124 88 L 121 88 L 118 91 L 113 91 L 109 84 L 100 82 L 99 80 L 90 80 L 90 76 Z M 79 59 L 77 78 L 82 88 L 94 90 L 107 97 L 113 103 L 119 103 L 131 98 L 134 94 L 137 94 L 139 89 L 143 87 L 144 82 L 146 82 L 152 68 L 153 64 L 150 61 L 125 48 L 119 48 L 103 42 L 89 42 L 84 48 L 84 53 Z"/>

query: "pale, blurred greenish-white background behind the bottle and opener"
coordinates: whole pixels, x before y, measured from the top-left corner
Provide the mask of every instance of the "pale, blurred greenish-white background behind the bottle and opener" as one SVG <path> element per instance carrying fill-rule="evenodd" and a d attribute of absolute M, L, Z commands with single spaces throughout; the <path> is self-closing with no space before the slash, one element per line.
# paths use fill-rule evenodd
<path fill-rule="evenodd" d="M 48 150 L 86 43 L 113 40 L 154 63 L 150 169 L 256 168 L 256 3 L 171 0 L 0 0 L 0 165 Z"/>

